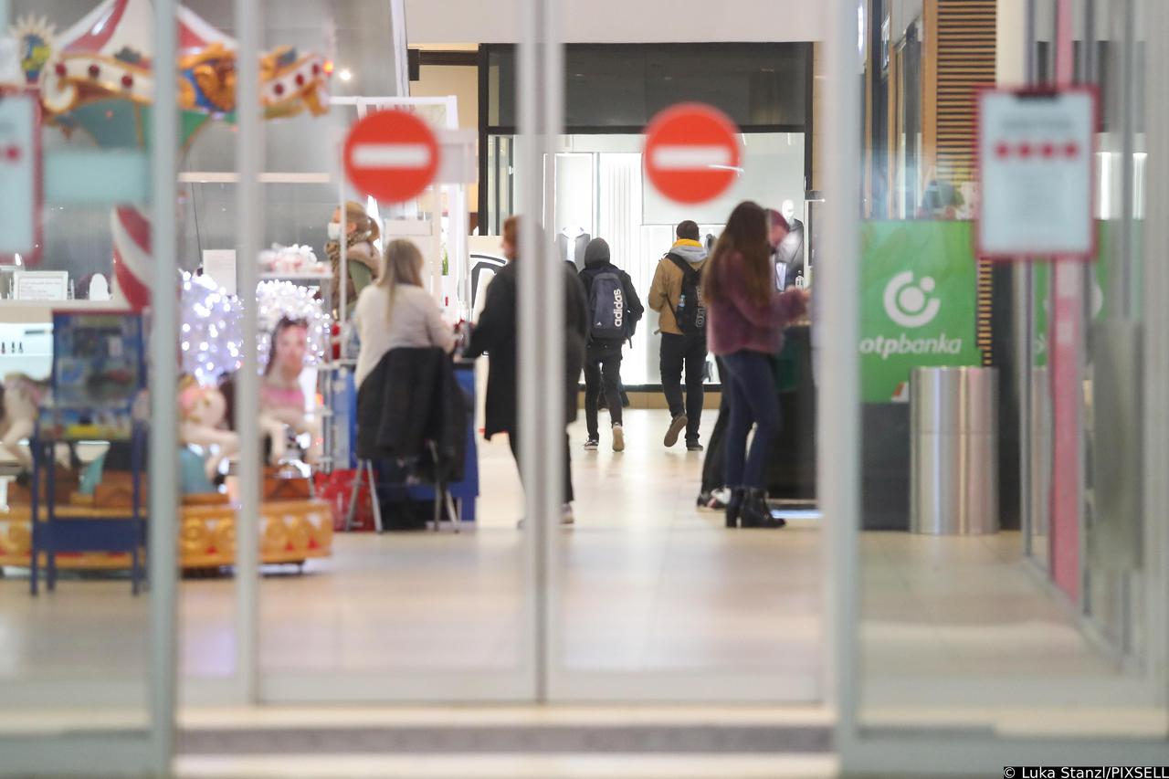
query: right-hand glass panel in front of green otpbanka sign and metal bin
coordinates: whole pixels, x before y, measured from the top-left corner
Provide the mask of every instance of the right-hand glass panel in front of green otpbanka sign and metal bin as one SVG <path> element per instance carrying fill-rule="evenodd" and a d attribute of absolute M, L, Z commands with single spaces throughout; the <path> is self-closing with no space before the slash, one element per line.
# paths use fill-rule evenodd
<path fill-rule="evenodd" d="M 1029 23 L 1023 8 L 1012 14 L 1002 4 L 963 4 L 962 12 L 927 4 L 922 67 L 927 85 L 936 84 L 936 96 L 924 91 L 932 103 L 925 156 L 935 163 L 929 211 L 879 221 L 860 218 L 855 199 L 832 195 L 858 189 L 862 159 L 858 63 L 842 43 L 856 37 L 856 16 L 841 13 L 843 5 L 831 28 L 829 123 L 832 139 L 850 151 L 830 164 L 826 187 L 837 222 L 826 253 L 842 262 L 823 263 L 817 290 L 826 294 L 821 399 L 831 409 L 822 418 L 821 451 L 837 463 L 824 509 L 839 586 L 833 628 L 844 770 L 1008 766 L 1014 775 L 1009 766 L 1156 760 L 1169 738 L 1167 533 L 1163 509 L 1147 501 L 1163 490 L 1169 430 L 1151 412 L 1160 389 L 1149 378 L 1165 371 L 1161 323 L 1151 313 L 1165 280 L 1146 261 L 1155 253 L 1140 236 L 1153 247 L 1164 234 L 1142 223 L 1137 204 L 1148 197 L 1151 208 L 1163 195 L 1142 188 L 1139 171 L 1157 164 L 1158 149 L 1146 158 L 1144 144 L 1164 105 L 1160 96 L 1143 97 L 1134 67 L 1143 35 L 1154 40 L 1169 16 L 1158 4 L 1059 1 L 1035 4 L 1044 13 Z M 1097 53 L 1094 64 L 1073 67 L 1077 36 L 1086 41 L 1081 53 Z M 953 109 L 969 105 L 978 88 L 971 74 L 995 74 L 988 53 L 1035 50 L 1035 37 L 1051 41 L 1050 78 L 1070 84 L 1079 74 L 1100 84 L 1105 137 L 1094 184 L 1100 200 L 1112 200 L 1107 213 L 1093 215 L 1099 257 L 1026 269 L 1037 289 L 1051 291 L 1050 313 L 1040 303 L 1046 295 L 1033 302 L 1037 322 L 1051 323 L 1036 332 L 1052 359 L 1046 382 L 1028 380 L 1038 363 L 1015 363 L 1018 352 L 1002 346 L 1028 343 L 1021 325 L 1028 313 L 1016 319 L 992 303 L 1011 299 L 1012 275 L 988 280 L 971 248 L 977 223 L 963 209 L 980 186 L 967 143 L 977 127 Z M 946 48 L 957 40 L 985 48 Z M 956 75 L 960 64 L 967 81 Z M 1100 81 L 1097 68 L 1126 76 Z M 1022 66 L 997 74 L 1004 87 L 1025 75 Z M 1140 105 L 1148 108 L 1148 136 Z M 936 126 L 928 126 L 931 117 Z M 1074 298 L 1071 316 L 1057 315 L 1057 296 Z M 991 338 L 980 335 L 987 324 Z M 925 346 L 942 342 L 945 350 Z M 1054 450 L 1046 462 L 1028 461 L 1024 513 L 1039 505 L 1047 516 L 1032 509 L 1030 526 L 1016 524 L 1016 506 L 1001 499 L 1019 477 L 998 447 L 1014 423 L 1004 409 L 1016 400 L 1016 379 L 1032 387 L 1032 415 L 1045 398 L 1074 412 L 1070 423 L 1043 430 L 1044 422 L 1032 421 L 1018 432 L 1032 450 Z M 973 522 L 955 522 L 961 517 Z"/>

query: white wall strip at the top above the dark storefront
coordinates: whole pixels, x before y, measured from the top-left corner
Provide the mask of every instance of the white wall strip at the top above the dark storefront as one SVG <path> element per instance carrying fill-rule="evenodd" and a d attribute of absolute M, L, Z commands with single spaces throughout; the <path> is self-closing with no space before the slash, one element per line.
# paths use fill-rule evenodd
<path fill-rule="evenodd" d="M 560 4 L 566 43 L 818 41 L 823 0 L 588 0 Z M 421 43 L 518 43 L 519 0 L 406 0 Z"/>

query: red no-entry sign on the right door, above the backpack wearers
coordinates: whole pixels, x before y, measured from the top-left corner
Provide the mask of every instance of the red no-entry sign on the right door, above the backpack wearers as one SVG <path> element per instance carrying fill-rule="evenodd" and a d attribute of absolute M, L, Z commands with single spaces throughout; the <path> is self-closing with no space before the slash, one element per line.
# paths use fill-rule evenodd
<path fill-rule="evenodd" d="M 713 200 L 741 172 L 739 127 L 701 103 L 680 103 L 658 113 L 645 129 L 645 174 L 670 200 Z"/>

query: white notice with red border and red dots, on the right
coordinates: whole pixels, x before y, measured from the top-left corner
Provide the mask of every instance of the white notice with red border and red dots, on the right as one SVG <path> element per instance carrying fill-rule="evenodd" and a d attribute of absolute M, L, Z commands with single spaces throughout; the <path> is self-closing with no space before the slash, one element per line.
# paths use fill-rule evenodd
<path fill-rule="evenodd" d="M 981 256 L 1095 256 L 1095 108 L 1088 89 L 980 92 Z"/>

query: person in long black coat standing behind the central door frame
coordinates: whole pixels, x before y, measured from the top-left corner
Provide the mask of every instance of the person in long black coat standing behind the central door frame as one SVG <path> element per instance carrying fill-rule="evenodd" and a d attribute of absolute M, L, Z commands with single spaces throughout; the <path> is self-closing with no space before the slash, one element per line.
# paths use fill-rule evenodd
<path fill-rule="evenodd" d="M 497 433 L 506 433 L 516 463 L 519 451 L 519 374 L 518 329 L 519 295 L 516 277 L 519 218 L 511 216 L 504 222 L 504 255 L 511 261 L 487 287 L 483 313 L 471 332 L 465 357 L 473 358 L 489 353 L 486 429 L 487 440 Z M 588 337 L 588 313 L 584 290 L 574 270 L 567 266 L 565 273 L 565 426 L 576 421 L 576 395 L 581 368 L 584 365 L 584 342 Z M 523 473 L 523 470 L 521 470 Z M 573 523 L 572 462 L 568 454 L 568 432 L 565 432 L 565 510 L 563 524 Z"/>

